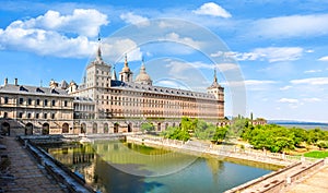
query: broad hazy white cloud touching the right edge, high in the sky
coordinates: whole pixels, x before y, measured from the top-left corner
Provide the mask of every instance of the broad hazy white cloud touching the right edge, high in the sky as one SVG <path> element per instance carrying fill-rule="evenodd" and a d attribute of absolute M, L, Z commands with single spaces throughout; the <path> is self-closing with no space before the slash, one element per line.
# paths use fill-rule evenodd
<path fill-rule="evenodd" d="M 290 15 L 254 22 L 250 33 L 267 38 L 321 36 L 328 34 L 328 14 Z"/>

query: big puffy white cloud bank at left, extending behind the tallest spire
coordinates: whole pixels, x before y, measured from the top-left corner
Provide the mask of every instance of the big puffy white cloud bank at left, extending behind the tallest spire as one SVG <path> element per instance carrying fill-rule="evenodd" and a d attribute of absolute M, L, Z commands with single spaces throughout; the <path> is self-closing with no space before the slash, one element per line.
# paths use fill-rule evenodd
<path fill-rule="evenodd" d="M 15 21 L 4 31 L 0 28 L 1 49 L 35 52 L 61 58 L 89 58 L 95 53 L 98 43 L 89 39 L 96 36 L 107 16 L 96 10 L 74 10 L 71 15 L 48 11 L 45 15 L 26 21 Z M 77 37 L 68 37 L 71 34 Z M 125 53 L 129 60 L 140 60 L 141 51 L 131 39 L 103 39 L 104 59 L 115 61 Z"/>

